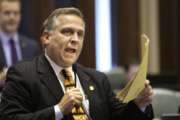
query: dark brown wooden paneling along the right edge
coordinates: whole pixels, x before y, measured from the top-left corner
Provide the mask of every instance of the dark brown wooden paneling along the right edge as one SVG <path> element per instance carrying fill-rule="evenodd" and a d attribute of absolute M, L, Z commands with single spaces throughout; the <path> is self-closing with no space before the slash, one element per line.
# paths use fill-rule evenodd
<path fill-rule="evenodd" d="M 161 71 L 177 75 L 180 88 L 180 2 L 160 0 L 159 8 Z"/>

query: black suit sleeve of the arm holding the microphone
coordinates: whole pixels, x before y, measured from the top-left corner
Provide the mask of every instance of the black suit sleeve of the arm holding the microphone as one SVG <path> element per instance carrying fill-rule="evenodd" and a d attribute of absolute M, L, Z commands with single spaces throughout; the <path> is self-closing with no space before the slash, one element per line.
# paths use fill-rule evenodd
<path fill-rule="evenodd" d="M 8 71 L 0 103 L 0 120 L 55 120 L 53 106 L 34 111 L 30 90 L 23 76 L 16 69 Z"/>

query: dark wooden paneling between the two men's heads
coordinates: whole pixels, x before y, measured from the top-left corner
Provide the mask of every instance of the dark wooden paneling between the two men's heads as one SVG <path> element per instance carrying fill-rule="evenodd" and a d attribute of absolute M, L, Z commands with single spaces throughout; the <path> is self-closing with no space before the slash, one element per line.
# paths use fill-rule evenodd
<path fill-rule="evenodd" d="M 55 8 L 54 0 L 29 0 L 25 18 L 28 21 L 27 29 L 29 34 L 39 40 L 40 29 L 43 21 Z"/>

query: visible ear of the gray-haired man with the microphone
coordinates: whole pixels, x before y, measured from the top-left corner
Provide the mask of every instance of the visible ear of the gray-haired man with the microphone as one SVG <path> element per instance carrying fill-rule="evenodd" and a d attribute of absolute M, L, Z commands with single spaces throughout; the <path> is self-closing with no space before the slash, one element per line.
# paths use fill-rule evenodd
<path fill-rule="evenodd" d="M 43 48 L 48 46 L 48 44 L 50 42 L 50 37 L 51 37 L 50 33 L 48 33 L 48 32 L 42 33 L 42 35 L 40 37 L 40 41 L 41 41 L 41 45 L 43 46 Z"/>

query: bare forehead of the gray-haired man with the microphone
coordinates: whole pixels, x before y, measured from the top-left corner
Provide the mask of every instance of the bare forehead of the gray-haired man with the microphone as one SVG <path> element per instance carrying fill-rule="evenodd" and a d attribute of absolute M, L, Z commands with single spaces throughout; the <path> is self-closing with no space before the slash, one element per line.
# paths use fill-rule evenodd
<path fill-rule="evenodd" d="M 84 30 L 85 23 L 82 18 L 76 15 L 60 15 L 56 20 L 57 27 L 75 27 L 77 29 Z"/>

